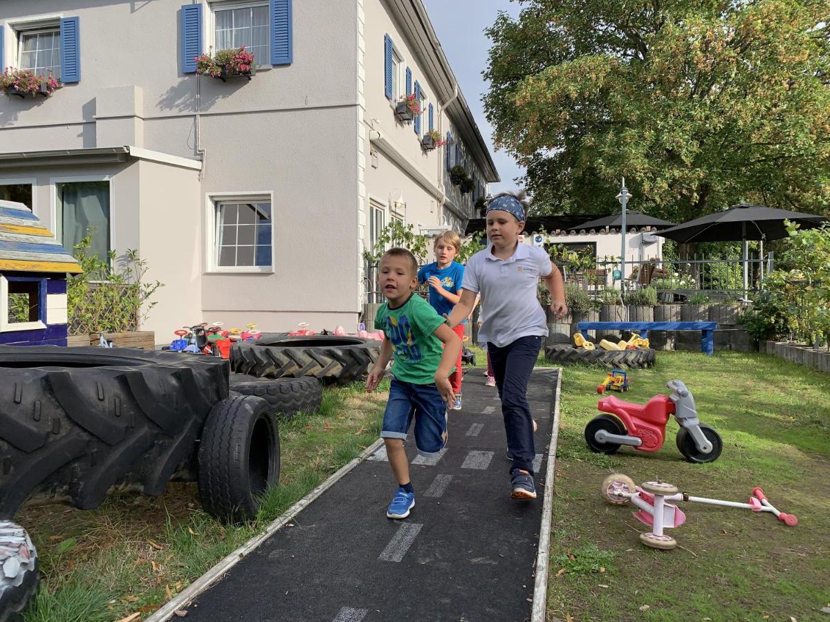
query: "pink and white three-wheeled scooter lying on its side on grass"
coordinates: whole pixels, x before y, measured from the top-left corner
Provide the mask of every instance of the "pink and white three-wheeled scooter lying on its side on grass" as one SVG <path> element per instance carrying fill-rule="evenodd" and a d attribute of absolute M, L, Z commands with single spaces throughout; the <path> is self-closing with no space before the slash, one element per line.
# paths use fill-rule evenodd
<path fill-rule="evenodd" d="M 798 518 L 793 514 L 785 514 L 775 509 L 761 488 L 752 489 L 752 497 L 749 503 L 737 503 L 735 501 L 721 501 L 706 497 L 692 497 L 688 493 L 681 493 L 677 487 L 666 482 L 645 482 L 641 486 L 634 484 L 634 480 L 627 475 L 614 473 L 603 480 L 601 493 L 603 498 L 614 505 L 625 505 L 633 503 L 640 508 L 633 513 L 638 521 L 652 527 L 652 531 L 640 534 L 640 542 L 647 547 L 670 550 L 677 546 L 677 541 L 667 536 L 663 530 L 680 527 L 686 522 L 686 514 L 677 508 L 676 505 L 667 503 L 669 501 L 695 501 L 697 503 L 708 503 L 710 505 L 723 505 L 727 508 L 744 508 L 753 512 L 771 512 L 784 522 L 785 525 L 793 527 L 798 523 Z"/>

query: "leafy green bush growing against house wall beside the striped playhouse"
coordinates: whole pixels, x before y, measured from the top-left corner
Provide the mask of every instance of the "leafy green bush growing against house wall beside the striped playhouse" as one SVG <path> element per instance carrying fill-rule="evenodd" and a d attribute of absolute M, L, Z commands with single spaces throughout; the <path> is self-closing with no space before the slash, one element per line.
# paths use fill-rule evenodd
<path fill-rule="evenodd" d="M 66 280 L 69 334 L 134 331 L 155 306 L 150 298 L 164 285 L 142 280 L 148 268 L 137 250 L 127 250 L 120 259 L 110 250 L 102 260 L 89 254 L 91 242 L 90 234 L 75 247 L 83 272 Z"/>

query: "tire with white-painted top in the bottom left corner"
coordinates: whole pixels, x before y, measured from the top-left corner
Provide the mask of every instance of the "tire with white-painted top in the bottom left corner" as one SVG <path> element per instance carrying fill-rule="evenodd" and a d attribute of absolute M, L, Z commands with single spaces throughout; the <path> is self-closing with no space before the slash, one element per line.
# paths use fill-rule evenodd
<path fill-rule="evenodd" d="M 14 576 L 6 576 L 3 566 L 12 558 L 17 571 Z M 0 622 L 22 620 L 22 611 L 37 592 L 39 566 L 26 530 L 13 522 L 0 521 Z"/>

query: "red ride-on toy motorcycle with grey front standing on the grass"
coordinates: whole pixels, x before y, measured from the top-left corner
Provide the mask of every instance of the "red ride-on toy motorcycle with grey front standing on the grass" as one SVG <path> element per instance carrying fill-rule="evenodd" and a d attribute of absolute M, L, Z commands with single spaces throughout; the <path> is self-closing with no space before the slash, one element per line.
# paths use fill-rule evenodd
<path fill-rule="evenodd" d="M 657 451 L 666 440 L 666 423 L 675 416 L 677 449 L 689 462 L 714 462 L 723 449 L 720 435 L 697 418 L 695 398 L 680 380 L 666 383 L 670 396 L 657 395 L 644 406 L 616 396 L 603 397 L 598 409 L 603 414 L 588 421 L 585 441 L 598 454 L 613 454 L 620 445 L 639 451 Z"/>

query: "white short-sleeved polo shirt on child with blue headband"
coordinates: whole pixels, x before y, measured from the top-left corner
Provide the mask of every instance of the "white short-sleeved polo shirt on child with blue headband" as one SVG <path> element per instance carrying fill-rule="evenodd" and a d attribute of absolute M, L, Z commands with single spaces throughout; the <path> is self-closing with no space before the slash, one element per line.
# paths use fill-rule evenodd
<path fill-rule="evenodd" d="M 505 347 L 520 337 L 546 337 L 548 318 L 539 304 L 540 277 L 549 276 L 550 257 L 538 246 L 520 244 L 500 260 L 492 246 L 473 255 L 464 269 L 464 289 L 481 294 L 481 331 Z"/>

